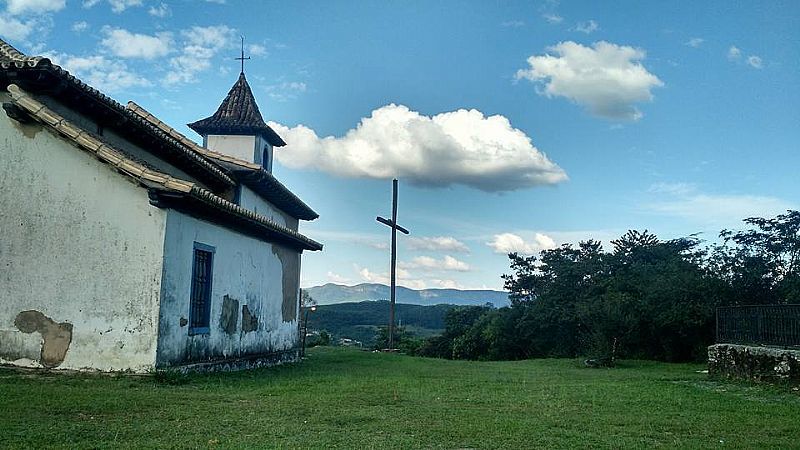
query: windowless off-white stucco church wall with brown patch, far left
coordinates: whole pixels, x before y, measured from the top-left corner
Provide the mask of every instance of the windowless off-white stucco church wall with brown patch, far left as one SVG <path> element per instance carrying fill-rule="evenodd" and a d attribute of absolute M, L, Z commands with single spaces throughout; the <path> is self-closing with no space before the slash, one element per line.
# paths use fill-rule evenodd
<path fill-rule="evenodd" d="M 0 113 L 0 211 L 0 363 L 152 367 L 166 211 L 146 190 Z"/>

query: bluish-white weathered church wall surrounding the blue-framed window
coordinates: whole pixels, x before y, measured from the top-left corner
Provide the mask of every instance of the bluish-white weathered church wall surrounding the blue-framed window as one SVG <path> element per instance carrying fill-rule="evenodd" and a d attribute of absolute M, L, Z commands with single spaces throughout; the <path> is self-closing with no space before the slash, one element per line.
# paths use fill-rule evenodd
<path fill-rule="evenodd" d="M 195 242 L 214 248 L 211 320 L 208 334 L 190 335 L 183 321 L 189 315 Z M 159 367 L 296 351 L 299 289 L 290 286 L 291 292 L 285 290 L 283 274 L 287 268 L 273 247 L 169 211 L 159 316 Z M 288 270 L 299 278 L 300 254 L 289 253 L 296 256 L 298 264 Z M 293 315 L 284 314 L 287 298 L 292 299 Z M 286 316 L 291 320 L 284 320 Z"/>

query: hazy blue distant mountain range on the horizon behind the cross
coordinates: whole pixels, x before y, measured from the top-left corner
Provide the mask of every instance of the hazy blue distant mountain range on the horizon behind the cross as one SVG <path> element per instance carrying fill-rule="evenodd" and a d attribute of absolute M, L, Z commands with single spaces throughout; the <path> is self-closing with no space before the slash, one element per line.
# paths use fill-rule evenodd
<path fill-rule="evenodd" d="M 355 286 L 328 283 L 305 288 L 320 305 L 362 302 L 365 300 L 388 300 L 389 286 L 364 283 Z M 495 307 L 508 306 L 508 293 L 491 290 L 422 289 L 397 287 L 397 302 L 410 305 L 475 305 L 491 303 Z"/>

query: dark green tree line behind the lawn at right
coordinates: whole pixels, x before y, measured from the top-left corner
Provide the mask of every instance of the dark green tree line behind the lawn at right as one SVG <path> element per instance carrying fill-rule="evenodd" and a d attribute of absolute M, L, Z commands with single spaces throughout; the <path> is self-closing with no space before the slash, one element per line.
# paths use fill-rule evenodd
<path fill-rule="evenodd" d="M 511 306 L 456 307 L 442 335 L 396 340 L 448 359 L 704 359 L 718 306 L 800 302 L 800 212 L 744 223 L 709 245 L 631 230 L 611 251 L 590 239 L 511 253 L 503 275 Z"/>

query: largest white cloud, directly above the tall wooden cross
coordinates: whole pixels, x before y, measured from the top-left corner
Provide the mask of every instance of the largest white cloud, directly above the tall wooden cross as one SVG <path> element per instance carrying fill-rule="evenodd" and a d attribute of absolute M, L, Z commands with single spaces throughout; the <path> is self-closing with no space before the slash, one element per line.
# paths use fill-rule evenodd
<path fill-rule="evenodd" d="M 372 111 L 342 137 L 319 137 L 299 125 L 270 126 L 291 146 L 278 160 L 351 178 L 400 177 L 426 187 L 464 185 L 511 191 L 567 179 L 507 118 L 477 110 L 425 116 L 390 104 Z"/>

